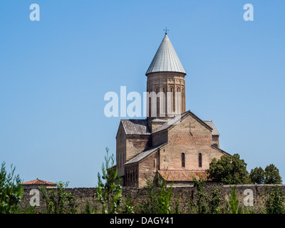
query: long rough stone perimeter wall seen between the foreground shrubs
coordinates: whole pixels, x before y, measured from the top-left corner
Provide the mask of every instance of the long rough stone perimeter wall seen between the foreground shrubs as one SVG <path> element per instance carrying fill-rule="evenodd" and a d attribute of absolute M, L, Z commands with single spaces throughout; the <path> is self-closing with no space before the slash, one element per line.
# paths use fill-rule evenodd
<path fill-rule="evenodd" d="M 281 190 L 285 192 L 285 185 L 278 185 L 281 187 Z M 227 199 L 229 199 L 230 186 L 229 185 L 221 185 L 216 183 L 207 183 L 205 186 L 204 192 L 206 195 L 210 195 L 211 191 L 216 187 L 219 188 L 221 192 L 222 204 L 225 205 Z M 254 210 L 255 212 L 261 212 L 264 208 L 264 202 L 267 197 L 267 191 L 271 190 L 274 185 L 237 185 L 237 196 L 239 198 L 239 204 L 243 207 L 244 198 L 247 195 L 244 195 L 247 191 L 252 191 L 253 199 L 254 199 Z M 30 204 L 30 199 L 33 195 L 30 195 L 30 189 L 24 190 L 24 197 L 21 200 L 21 207 L 26 207 Z M 68 188 L 67 192 L 71 192 L 76 197 L 76 202 L 81 202 L 78 207 L 79 212 L 83 212 L 86 206 L 86 202 L 88 201 L 91 207 L 97 205 L 98 213 L 100 213 L 100 203 L 96 200 L 95 188 L 91 187 L 81 187 L 81 188 Z M 179 199 L 179 207 L 180 211 L 183 213 L 190 212 L 190 202 L 195 202 L 196 195 L 195 187 L 173 187 L 172 188 L 172 205 L 171 207 L 175 207 L 175 201 Z M 123 187 L 123 203 L 125 202 L 125 197 L 130 195 L 133 199 L 134 204 L 138 204 L 141 200 L 147 198 L 147 191 L 145 189 L 138 189 L 134 187 Z M 42 198 L 42 194 L 40 192 L 40 206 L 36 207 L 37 212 L 44 212 L 46 208 L 46 203 Z"/>

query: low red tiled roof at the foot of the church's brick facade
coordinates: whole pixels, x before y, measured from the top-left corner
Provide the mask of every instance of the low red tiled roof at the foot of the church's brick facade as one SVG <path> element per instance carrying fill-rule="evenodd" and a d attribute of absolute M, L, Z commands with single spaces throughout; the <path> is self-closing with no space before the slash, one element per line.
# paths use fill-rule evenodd
<path fill-rule="evenodd" d="M 192 177 L 197 180 L 200 178 L 207 180 L 205 170 L 157 170 L 166 181 L 193 181 Z"/>

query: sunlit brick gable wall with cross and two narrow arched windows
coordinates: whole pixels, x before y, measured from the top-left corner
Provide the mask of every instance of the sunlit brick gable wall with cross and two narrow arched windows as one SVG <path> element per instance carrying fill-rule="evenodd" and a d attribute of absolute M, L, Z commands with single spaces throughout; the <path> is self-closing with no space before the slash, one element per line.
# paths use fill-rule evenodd
<path fill-rule="evenodd" d="M 157 133 L 154 136 L 163 138 L 163 134 Z M 211 130 L 191 115 L 170 128 L 167 136 L 168 143 L 160 150 L 162 170 L 206 170 L 214 157 L 219 159 L 223 155 L 211 147 Z M 185 167 L 182 167 L 182 153 L 185 154 Z M 199 167 L 199 154 L 202 155 L 202 167 Z"/>

